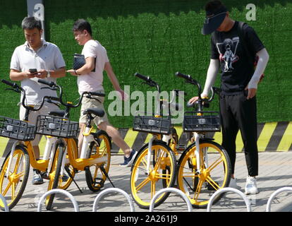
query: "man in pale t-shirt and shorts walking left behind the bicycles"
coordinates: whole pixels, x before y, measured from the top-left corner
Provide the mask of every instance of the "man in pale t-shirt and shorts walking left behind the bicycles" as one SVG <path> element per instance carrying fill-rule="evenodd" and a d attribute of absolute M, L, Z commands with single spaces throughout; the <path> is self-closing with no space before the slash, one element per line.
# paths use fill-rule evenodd
<path fill-rule="evenodd" d="M 82 54 L 85 56 L 85 65 L 82 66 L 78 70 L 68 70 L 68 73 L 71 73 L 73 76 L 77 76 L 78 83 L 78 92 L 81 95 L 85 91 L 102 91 L 104 92 L 104 88 L 102 86 L 103 81 L 103 72 L 107 71 L 107 76 L 111 83 L 114 86 L 114 89 L 121 94 L 122 99 L 125 98 L 125 93 L 121 90 L 116 75 L 114 74 L 113 69 L 111 68 L 111 64 L 109 63 L 109 58 L 107 57 L 107 50 L 100 44 L 97 40 L 92 39 L 92 29 L 90 23 L 86 20 L 80 19 L 77 20 L 73 25 L 73 33 L 75 36 L 75 40 L 78 44 L 83 45 Z M 97 107 L 99 109 L 104 109 L 103 102 L 104 98 L 99 97 L 99 100 L 102 102 L 98 102 L 97 100 L 91 100 L 88 98 L 83 98 L 83 102 L 81 105 L 81 114 L 80 114 L 80 135 L 78 137 L 78 147 L 79 150 L 82 148 L 83 143 L 83 129 L 85 127 L 85 116 L 83 116 L 83 112 L 85 109 L 89 107 Z M 107 114 L 104 114 L 104 117 L 95 118 L 95 124 L 99 129 L 107 131 L 109 136 L 111 136 L 112 141 L 118 145 L 123 150 L 124 153 L 124 162 L 120 165 L 121 167 L 128 167 L 132 165 L 133 160 L 135 159 L 135 155 L 137 152 L 135 150 L 131 150 L 131 148 L 127 145 L 123 138 L 121 138 L 120 133 L 109 124 L 109 120 L 107 119 Z"/>

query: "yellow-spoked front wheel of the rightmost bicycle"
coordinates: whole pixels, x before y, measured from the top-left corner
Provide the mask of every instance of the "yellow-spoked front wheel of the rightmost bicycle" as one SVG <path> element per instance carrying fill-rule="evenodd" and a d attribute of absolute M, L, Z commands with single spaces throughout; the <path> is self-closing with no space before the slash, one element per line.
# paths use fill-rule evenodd
<path fill-rule="evenodd" d="M 178 188 L 188 196 L 194 208 L 206 208 L 214 191 L 229 186 L 231 164 L 226 150 L 213 141 L 200 143 L 200 167 L 195 150 L 195 143 L 192 143 L 178 160 Z M 214 203 L 222 196 L 217 196 Z"/>

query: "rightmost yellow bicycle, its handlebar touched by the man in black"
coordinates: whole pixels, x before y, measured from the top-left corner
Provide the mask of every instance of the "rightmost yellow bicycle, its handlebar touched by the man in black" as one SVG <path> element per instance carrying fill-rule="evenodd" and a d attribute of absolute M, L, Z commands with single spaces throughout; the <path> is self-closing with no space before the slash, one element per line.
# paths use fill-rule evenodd
<path fill-rule="evenodd" d="M 201 85 L 189 75 L 176 73 L 176 76 L 184 78 L 187 83 L 196 85 L 198 88 L 198 100 L 195 111 L 185 112 L 183 119 L 183 131 L 193 133 L 193 143 L 183 152 L 178 160 L 177 182 L 178 188 L 183 191 L 194 208 L 206 208 L 209 198 L 218 189 L 229 186 L 231 178 L 231 163 L 226 150 L 207 137 L 207 132 L 221 130 L 219 112 L 207 112 L 203 109 L 208 107 L 213 100 L 214 90 L 210 99 L 201 98 Z M 219 201 L 223 194 L 214 199 Z"/>

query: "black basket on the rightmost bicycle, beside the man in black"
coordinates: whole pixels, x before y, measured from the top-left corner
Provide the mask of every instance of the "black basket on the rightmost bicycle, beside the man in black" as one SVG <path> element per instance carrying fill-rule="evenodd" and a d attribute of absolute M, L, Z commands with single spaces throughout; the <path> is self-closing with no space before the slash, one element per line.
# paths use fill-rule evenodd
<path fill-rule="evenodd" d="M 221 131 L 219 112 L 185 112 L 183 117 L 185 132 L 217 132 Z"/>

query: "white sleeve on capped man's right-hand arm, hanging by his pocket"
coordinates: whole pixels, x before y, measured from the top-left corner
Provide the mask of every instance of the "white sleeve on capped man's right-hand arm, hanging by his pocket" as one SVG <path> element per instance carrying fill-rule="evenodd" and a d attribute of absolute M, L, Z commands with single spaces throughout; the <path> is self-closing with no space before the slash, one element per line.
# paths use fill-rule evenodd
<path fill-rule="evenodd" d="M 257 61 L 255 73 L 253 73 L 253 77 L 248 83 L 249 89 L 257 89 L 257 83 L 260 81 L 260 76 L 262 75 L 262 73 L 264 73 L 264 69 L 266 69 L 267 62 L 269 61 L 269 54 L 267 53 L 267 49 L 265 48 L 257 52 L 257 56 L 259 57 L 259 60 Z"/>

